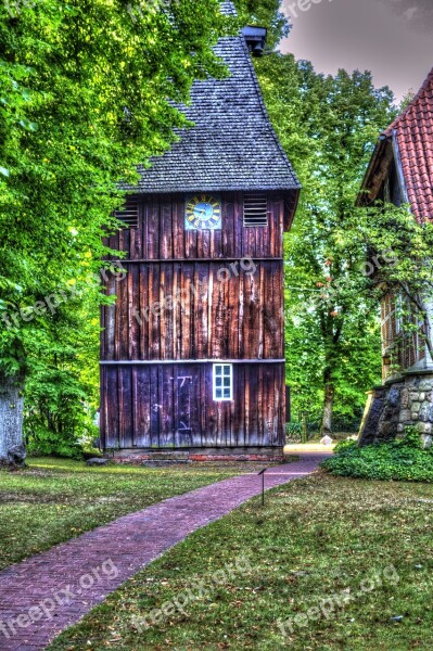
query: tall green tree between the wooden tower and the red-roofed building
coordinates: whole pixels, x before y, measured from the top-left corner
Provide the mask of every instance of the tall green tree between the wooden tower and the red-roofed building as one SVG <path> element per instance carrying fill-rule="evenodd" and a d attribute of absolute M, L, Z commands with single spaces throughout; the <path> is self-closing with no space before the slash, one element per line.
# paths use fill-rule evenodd
<path fill-rule="evenodd" d="M 257 64 L 268 111 L 302 180 L 285 242 L 288 381 L 297 407 L 321 399 L 321 430 L 358 407 L 380 381 L 378 306 L 362 272 L 365 241 L 347 237 L 378 133 L 394 116 L 393 95 L 369 73 L 324 77 L 308 62 L 276 53 Z M 374 361 L 375 360 L 375 361 Z"/>

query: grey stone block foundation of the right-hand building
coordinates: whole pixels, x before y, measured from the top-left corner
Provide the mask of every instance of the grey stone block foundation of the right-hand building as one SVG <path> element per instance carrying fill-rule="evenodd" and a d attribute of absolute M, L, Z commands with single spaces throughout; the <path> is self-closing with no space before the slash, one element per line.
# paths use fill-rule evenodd
<path fill-rule="evenodd" d="M 431 444 L 433 370 L 408 372 L 369 394 L 359 435 L 360 445 L 402 437 L 409 425 L 419 430 L 425 445 Z"/>

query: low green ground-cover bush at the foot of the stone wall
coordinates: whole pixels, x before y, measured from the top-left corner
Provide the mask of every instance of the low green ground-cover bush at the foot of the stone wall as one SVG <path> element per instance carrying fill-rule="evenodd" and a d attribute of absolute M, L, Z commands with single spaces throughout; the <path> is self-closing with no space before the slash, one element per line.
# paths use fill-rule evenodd
<path fill-rule="evenodd" d="M 433 449 L 422 449 L 420 433 L 407 427 L 405 438 L 392 443 L 360 448 L 354 441 L 343 442 L 321 467 L 345 477 L 433 482 Z"/>

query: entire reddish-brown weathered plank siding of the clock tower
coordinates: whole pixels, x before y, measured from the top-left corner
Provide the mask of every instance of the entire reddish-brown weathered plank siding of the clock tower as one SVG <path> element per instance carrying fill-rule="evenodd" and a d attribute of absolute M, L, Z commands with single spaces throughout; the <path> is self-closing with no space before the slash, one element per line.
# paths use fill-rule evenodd
<path fill-rule="evenodd" d="M 184 196 L 158 195 L 110 240 L 128 273 L 102 310 L 105 447 L 283 445 L 284 201 L 244 228 L 243 195 L 221 199 L 221 231 L 186 231 Z M 212 360 L 233 362 L 231 403 L 213 400 Z"/>

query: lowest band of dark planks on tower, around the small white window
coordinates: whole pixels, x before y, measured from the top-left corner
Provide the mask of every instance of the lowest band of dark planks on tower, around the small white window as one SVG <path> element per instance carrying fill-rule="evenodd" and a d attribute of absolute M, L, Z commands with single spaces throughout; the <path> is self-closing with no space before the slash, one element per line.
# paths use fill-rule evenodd
<path fill-rule="evenodd" d="M 234 400 L 215 403 L 211 363 L 103 367 L 105 446 L 283 445 L 284 365 L 234 365 L 233 381 Z"/>

